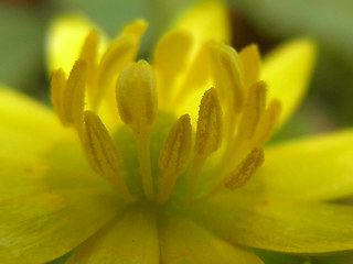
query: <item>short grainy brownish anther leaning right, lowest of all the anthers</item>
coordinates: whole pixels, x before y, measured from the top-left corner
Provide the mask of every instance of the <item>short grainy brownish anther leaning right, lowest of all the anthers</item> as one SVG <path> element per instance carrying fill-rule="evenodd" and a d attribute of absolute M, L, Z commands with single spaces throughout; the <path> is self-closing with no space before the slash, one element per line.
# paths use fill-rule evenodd
<path fill-rule="evenodd" d="M 231 173 L 225 186 L 235 189 L 245 185 L 256 170 L 263 165 L 265 160 L 264 150 L 255 147 L 242 162 L 242 164 Z"/>

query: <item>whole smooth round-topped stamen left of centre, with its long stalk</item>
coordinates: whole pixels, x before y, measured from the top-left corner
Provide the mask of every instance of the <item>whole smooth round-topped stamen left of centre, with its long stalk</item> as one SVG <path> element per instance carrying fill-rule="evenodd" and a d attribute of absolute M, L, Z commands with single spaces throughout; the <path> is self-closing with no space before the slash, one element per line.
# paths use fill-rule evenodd
<path fill-rule="evenodd" d="M 150 130 L 157 114 L 152 67 L 146 61 L 128 64 L 120 73 L 116 97 L 121 120 L 135 132 L 145 193 L 152 199 Z"/>

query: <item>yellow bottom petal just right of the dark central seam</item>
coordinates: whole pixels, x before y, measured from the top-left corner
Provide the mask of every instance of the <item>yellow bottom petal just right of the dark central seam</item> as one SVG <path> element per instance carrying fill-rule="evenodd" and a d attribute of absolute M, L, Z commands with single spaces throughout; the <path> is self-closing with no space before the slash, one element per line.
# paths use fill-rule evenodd
<path fill-rule="evenodd" d="M 229 244 L 190 219 L 167 216 L 160 226 L 161 263 L 260 264 L 255 254 Z"/>

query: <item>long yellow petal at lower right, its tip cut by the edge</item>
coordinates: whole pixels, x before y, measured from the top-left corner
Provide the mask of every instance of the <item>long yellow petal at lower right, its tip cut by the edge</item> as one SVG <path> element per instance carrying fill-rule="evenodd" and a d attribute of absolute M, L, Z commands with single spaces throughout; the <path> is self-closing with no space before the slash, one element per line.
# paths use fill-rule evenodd
<path fill-rule="evenodd" d="M 353 250 L 353 207 L 224 191 L 188 210 L 232 243 L 287 253 Z"/>

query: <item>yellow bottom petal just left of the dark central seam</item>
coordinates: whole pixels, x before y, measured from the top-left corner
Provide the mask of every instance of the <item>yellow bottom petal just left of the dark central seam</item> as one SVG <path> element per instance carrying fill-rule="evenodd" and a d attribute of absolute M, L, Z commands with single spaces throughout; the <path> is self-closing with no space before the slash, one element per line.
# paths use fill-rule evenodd
<path fill-rule="evenodd" d="M 87 240 L 65 263 L 160 263 L 154 216 L 142 210 L 128 211 Z"/>

